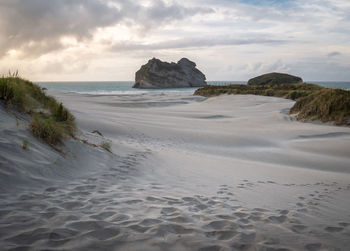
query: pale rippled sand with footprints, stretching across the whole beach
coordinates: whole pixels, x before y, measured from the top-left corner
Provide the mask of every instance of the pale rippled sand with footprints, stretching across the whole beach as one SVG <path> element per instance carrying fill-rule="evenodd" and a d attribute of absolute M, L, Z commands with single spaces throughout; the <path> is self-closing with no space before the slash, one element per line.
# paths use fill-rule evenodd
<path fill-rule="evenodd" d="M 114 155 L 74 141 L 66 158 L 41 143 L 23 154 L 21 140 L 35 140 L 7 115 L 4 247 L 350 246 L 350 128 L 292 121 L 293 102 L 271 97 L 53 95 L 76 116 L 80 137 L 111 140 Z M 103 138 L 89 133 L 96 129 Z"/>

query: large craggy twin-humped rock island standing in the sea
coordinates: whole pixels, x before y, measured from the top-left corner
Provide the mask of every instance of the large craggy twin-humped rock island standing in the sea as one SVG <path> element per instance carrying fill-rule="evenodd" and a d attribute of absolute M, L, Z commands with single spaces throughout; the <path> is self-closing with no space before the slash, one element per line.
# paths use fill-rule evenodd
<path fill-rule="evenodd" d="M 196 64 L 187 58 L 182 58 L 177 63 L 152 58 L 136 72 L 133 88 L 203 87 L 207 85 L 205 79 Z"/>

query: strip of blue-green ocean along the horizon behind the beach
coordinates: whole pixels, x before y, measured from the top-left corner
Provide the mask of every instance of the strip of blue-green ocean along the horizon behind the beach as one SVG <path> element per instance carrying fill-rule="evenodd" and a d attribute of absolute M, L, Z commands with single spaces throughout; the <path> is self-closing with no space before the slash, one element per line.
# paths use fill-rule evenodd
<path fill-rule="evenodd" d="M 308 81 L 324 87 L 350 90 L 350 82 L 336 81 Z M 246 84 L 246 81 L 208 81 L 209 85 Z M 141 94 L 149 92 L 194 92 L 198 88 L 172 88 L 172 89 L 135 89 L 133 81 L 81 81 L 81 82 L 37 82 L 48 90 L 61 92 L 75 92 L 81 94 Z"/>

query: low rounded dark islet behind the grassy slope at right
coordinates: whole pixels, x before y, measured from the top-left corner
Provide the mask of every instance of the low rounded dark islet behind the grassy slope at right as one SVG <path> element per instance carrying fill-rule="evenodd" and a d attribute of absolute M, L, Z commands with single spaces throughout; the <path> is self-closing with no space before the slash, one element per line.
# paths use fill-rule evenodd
<path fill-rule="evenodd" d="M 285 73 L 272 72 L 249 79 L 248 85 L 278 85 L 295 84 L 302 82 L 303 80 L 300 77 Z"/>

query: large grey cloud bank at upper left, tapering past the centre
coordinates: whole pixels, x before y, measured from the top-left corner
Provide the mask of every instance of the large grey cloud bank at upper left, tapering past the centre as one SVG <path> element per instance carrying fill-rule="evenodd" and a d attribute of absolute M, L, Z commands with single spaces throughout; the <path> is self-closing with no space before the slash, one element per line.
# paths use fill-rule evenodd
<path fill-rule="evenodd" d="M 136 2 L 137 3 L 137 2 Z M 129 22 L 149 29 L 184 19 L 208 8 L 184 7 L 161 0 L 145 7 L 131 0 L 2 0 L 0 2 L 0 57 L 10 49 L 40 56 L 62 49 L 60 38 L 90 39 L 99 27 Z"/>

